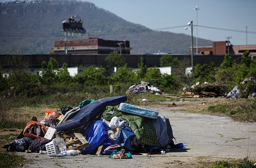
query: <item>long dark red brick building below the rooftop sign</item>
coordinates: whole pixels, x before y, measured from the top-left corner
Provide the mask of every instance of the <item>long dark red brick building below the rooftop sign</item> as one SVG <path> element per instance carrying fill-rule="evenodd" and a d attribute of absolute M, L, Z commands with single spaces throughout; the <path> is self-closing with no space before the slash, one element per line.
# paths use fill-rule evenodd
<path fill-rule="evenodd" d="M 130 42 L 103 40 L 100 38 L 89 38 L 72 41 L 54 41 L 54 54 L 64 54 L 65 49 L 68 54 L 109 54 L 119 51 L 122 54 L 130 54 Z"/>

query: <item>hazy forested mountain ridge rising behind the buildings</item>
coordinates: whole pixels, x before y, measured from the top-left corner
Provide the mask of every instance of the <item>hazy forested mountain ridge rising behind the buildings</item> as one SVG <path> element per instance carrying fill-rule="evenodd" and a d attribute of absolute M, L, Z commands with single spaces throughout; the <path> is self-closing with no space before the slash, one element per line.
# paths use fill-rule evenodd
<path fill-rule="evenodd" d="M 128 22 L 92 3 L 66 0 L 42 0 L 36 3 L 1 3 L 0 54 L 45 54 L 54 40 L 64 40 L 62 21 L 78 15 L 89 37 L 104 40 L 129 40 L 131 54 L 169 52 L 189 54 L 191 36 L 163 31 L 151 31 L 140 24 Z M 21 3 L 22 2 L 22 3 Z M 212 41 L 200 39 L 198 46 L 210 46 Z"/>

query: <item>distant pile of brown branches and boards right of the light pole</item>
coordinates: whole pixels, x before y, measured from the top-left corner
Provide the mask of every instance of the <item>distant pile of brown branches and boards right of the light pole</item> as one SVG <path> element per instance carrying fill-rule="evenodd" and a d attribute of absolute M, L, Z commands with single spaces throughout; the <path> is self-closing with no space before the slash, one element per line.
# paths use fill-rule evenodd
<path fill-rule="evenodd" d="M 220 83 L 199 83 L 192 85 L 189 88 L 183 88 L 180 97 L 220 97 L 227 92 L 228 86 Z"/>

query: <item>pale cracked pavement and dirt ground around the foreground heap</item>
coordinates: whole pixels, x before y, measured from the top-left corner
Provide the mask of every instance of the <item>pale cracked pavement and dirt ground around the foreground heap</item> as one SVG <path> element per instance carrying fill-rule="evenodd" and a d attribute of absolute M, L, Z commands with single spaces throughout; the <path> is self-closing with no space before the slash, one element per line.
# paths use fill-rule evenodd
<path fill-rule="evenodd" d="M 193 100 L 193 101 L 191 101 Z M 50 157 L 46 154 L 20 153 L 28 159 L 23 167 L 200 167 L 204 163 L 234 159 L 256 161 L 256 123 L 235 122 L 227 116 L 203 114 L 209 105 L 227 101 L 225 98 L 204 98 L 185 101 L 147 102 L 143 107 L 154 109 L 169 118 L 174 143 L 186 148 L 172 148 L 164 155 L 132 155 L 132 159 L 109 159 L 108 156 L 79 155 Z M 189 113 L 189 109 L 201 113 Z M 206 166 L 207 167 L 207 166 Z"/>

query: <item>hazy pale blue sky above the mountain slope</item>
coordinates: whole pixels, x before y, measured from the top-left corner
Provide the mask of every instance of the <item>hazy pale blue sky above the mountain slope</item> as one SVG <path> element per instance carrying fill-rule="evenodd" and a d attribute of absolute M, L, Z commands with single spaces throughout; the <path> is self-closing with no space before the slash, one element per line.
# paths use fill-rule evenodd
<path fill-rule="evenodd" d="M 232 37 L 230 42 L 233 45 L 246 45 L 247 26 L 247 44 L 256 44 L 256 0 L 82 1 L 92 2 L 99 8 L 106 9 L 124 20 L 141 24 L 150 29 L 184 25 L 181 28 L 171 28 L 163 31 L 191 35 L 191 30 L 184 30 L 184 28 L 188 22 L 193 21 L 193 25 L 198 25 L 193 29 L 194 37 L 196 37 L 196 32 L 198 32 L 198 38 L 212 41 L 225 41 L 229 36 Z M 200 9 L 197 11 L 197 24 L 196 10 L 194 10 L 196 6 Z M 239 32 L 214 28 L 238 30 Z"/>

